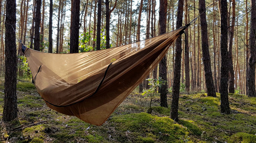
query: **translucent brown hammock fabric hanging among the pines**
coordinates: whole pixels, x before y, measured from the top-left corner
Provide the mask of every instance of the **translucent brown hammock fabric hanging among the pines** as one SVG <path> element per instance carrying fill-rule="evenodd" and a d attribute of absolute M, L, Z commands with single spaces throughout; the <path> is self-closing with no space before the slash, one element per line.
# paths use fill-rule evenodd
<path fill-rule="evenodd" d="M 158 65 L 184 29 L 85 53 L 52 54 L 25 46 L 22 50 L 48 107 L 99 126 Z"/>

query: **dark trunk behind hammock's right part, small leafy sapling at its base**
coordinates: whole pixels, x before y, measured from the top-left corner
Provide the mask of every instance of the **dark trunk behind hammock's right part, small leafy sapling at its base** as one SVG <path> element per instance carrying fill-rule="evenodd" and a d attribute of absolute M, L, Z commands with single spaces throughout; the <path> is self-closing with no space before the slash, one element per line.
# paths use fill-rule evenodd
<path fill-rule="evenodd" d="M 166 33 L 166 20 L 167 20 L 167 0 L 160 0 L 159 4 L 159 33 L 164 34 Z M 166 66 L 166 56 L 159 63 L 159 77 L 167 81 L 167 66 Z M 160 93 L 160 106 L 161 107 L 168 107 L 167 104 L 167 83 L 162 84 L 159 87 Z"/>

